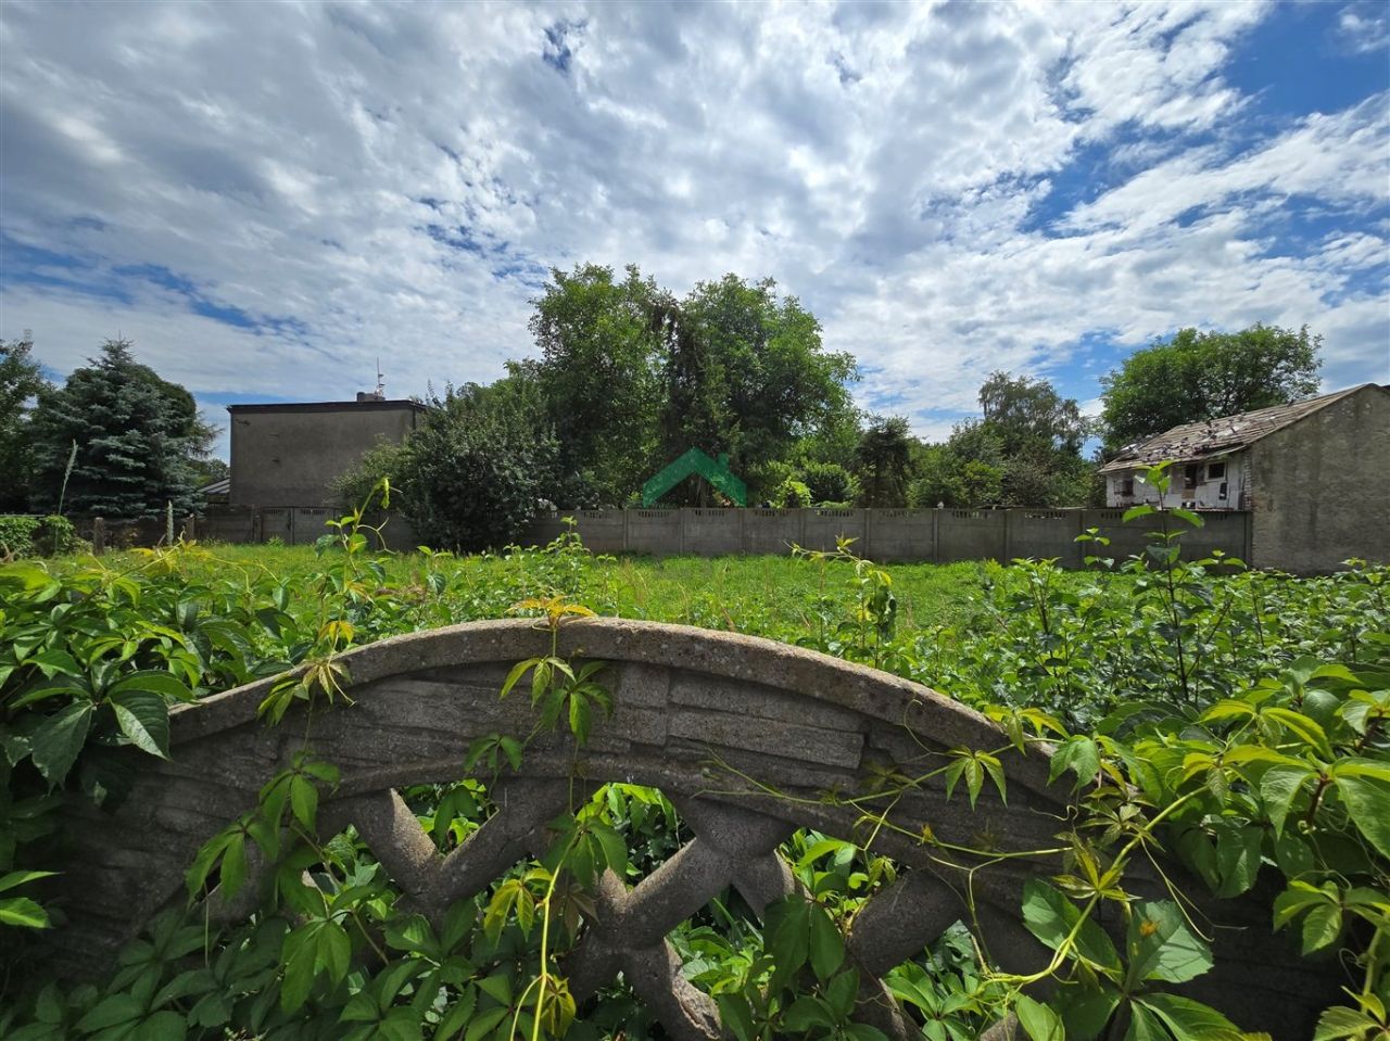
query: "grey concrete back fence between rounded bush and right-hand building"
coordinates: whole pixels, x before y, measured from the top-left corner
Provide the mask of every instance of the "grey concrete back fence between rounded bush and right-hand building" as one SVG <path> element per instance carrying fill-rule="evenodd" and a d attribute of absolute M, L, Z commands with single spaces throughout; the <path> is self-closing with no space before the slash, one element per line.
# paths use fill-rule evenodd
<path fill-rule="evenodd" d="M 573 510 L 538 521 L 524 543 L 543 545 L 566 531 L 574 517 L 580 538 L 595 553 L 673 556 L 785 555 L 791 546 L 834 549 L 838 538 L 855 539 L 856 553 L 881 562 L 949 563 L 1058 557 L 1080 567 L 1086 555 L 1125 559 L 1141 553 L 1163 518 L 1123 524 L 1123 510 Z M 1188 557 L 1220 550 L 1250 560 L 1250 513 L 1204 513 L 1201 528 L 1183 535 Z M 1172 521 L 1186 528 L 1182 521 Z M 1077 543 L 1095 528 L 1111 543 Z M 1277 562 L 1259 562 L 1277 563 Z"/>

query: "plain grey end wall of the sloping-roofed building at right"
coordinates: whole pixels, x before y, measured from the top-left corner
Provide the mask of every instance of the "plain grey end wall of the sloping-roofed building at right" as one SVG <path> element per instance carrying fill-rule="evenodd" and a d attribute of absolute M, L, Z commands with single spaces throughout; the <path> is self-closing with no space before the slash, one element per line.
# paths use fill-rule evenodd
<path fill-rule="evenodd" d="M 1364 386 L 1250 452 L 1257 564 L 1307 573 L 1390 560 L 1390 391 Z"/>

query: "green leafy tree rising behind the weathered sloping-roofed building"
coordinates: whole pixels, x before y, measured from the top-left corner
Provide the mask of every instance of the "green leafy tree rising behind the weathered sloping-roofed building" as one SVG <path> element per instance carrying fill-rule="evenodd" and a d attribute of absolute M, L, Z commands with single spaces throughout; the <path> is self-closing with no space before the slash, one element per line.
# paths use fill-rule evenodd
<path fill-rule="evenodd" d="M 1105 450 L 1184 423 L 1287 404 L 1318 392 L 1322 336 L 1251 325 L 1240 332 L 1179 329 L 1101 377 Z"/>

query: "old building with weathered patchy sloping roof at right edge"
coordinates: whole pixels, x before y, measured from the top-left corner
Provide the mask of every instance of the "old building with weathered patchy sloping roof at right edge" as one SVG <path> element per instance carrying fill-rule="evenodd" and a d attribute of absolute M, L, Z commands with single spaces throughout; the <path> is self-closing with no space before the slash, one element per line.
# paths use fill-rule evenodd
<path fill-rule="evenodd" d="M 1101 467 L 1113 507 L 1158 503 L 1138 479 L 1172 461 L 1162 505 L 1251 510 L 1251 563 L 1332 571 L 1390 560 L 1390 386 L 1364 384 L 1131 445 Z"/>

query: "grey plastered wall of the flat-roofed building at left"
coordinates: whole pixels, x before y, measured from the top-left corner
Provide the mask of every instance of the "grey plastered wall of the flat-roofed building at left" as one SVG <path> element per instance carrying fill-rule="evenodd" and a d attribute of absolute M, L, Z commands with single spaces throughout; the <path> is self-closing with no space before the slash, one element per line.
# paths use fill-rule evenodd
<path fill-rule="evenodd" d="M 399 442 L 425 411 L 416 402 L 234 404 L 232 506 L 332 506 L 332 482 L 378 441 Z"/>

